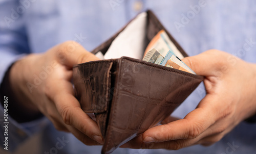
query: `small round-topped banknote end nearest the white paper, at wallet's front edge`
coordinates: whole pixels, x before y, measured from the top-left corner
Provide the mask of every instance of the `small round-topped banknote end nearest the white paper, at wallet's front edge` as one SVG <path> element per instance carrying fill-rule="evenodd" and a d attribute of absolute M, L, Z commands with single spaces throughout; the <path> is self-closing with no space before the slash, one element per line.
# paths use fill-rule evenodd
<path fill-rule="evenodd" d="M 160 65 L 163 58 L 164 57 L 155 48 L 153 48 L 152 50 L 147 52 L 147 54 L 144 56 L 142 60 Z"/>

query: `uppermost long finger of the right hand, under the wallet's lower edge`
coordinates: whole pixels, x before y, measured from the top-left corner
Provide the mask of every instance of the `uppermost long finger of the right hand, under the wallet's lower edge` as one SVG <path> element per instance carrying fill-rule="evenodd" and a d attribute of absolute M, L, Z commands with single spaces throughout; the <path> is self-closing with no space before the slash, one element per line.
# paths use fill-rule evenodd
<path fill-rule="evenodd" d="M 145 131 L 142 135 L 143 141 L 149 143 L 196 138 L 218 120 L 218 112 L 216 112 L 218 109 L 216 110 L 217 107 L 211 105 L 217 101 L 208 94 L 201 100 L 198 108 L 188 113 L 184 119 Z"/>

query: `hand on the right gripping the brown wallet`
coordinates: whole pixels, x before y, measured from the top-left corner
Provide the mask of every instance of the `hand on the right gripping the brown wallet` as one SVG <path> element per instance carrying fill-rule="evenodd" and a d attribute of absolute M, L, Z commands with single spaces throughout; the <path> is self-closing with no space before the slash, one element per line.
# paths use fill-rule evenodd
<path fill-rule="evenodd" d="M 218 142 L 236 125 L 256 113 L 256 65 L 219 50 L 182 60 L 205 76 L 206 96 L 184 119 L 167 118 L 123 145 L 130 148 L 180 149 Z"/>

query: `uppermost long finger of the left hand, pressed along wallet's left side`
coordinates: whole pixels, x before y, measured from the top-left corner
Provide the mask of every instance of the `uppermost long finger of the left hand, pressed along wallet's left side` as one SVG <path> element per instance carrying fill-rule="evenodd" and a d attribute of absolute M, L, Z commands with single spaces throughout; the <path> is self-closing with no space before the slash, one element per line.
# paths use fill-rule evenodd
<path fill-rule="evenodd" d="M 49 89 L 49 95 L 55 102 L 58 113 L 65 124 L 76 127 L 80 132 L 99 143 L 103 143 L 97 123 L 84 113 L 74 97 L 72 84 L 66 80 L 56 80 Z"/>

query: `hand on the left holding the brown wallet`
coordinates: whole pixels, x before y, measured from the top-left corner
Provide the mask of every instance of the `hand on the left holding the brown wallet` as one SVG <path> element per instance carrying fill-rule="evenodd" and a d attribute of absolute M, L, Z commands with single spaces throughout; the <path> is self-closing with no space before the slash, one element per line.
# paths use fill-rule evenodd
<path fill-rule="evenodd" d="M 17 61 L 10 82 L 19 106 L 31 115 L 41 112 L 57 130 L 71 132 L 84 144 L 102 144 L 97 123 L 82 111 L 71 83 L 73 65 L 95 60 L 80 44 L 68 41 Z"/>

